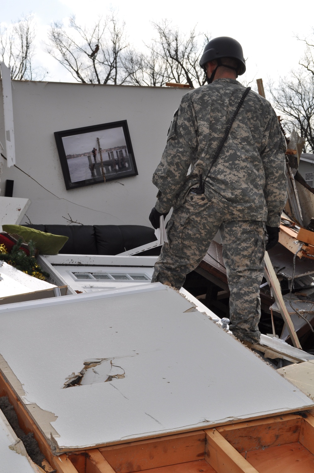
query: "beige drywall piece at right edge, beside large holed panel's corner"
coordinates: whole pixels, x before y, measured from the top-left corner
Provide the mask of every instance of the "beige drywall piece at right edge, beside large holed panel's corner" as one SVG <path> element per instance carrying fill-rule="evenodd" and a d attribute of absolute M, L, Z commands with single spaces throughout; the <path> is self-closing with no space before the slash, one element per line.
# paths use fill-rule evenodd
<path fill-rule="evenodd" d="M 297 386 L 306 396 L 314 399 L 314 361 L 294 363 L 277 369 L 290 383 Z"/>

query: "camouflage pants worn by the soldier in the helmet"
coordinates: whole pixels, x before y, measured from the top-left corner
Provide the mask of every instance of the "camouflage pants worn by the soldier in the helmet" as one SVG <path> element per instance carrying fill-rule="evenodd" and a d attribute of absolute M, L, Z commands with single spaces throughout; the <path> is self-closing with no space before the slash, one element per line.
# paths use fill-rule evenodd
<path fill-rule="evenodd" d="M 258 342 L 265 253 L 262 221 L 235 219 L 215 196 L 188 194 L 169 220 L 168 243 L 163 245 L 155 264 L 152 282 L 180 289 L 186 274 L 207 253 L 218 230 L 230 289 L 230 330 L 239 340 Z"/>

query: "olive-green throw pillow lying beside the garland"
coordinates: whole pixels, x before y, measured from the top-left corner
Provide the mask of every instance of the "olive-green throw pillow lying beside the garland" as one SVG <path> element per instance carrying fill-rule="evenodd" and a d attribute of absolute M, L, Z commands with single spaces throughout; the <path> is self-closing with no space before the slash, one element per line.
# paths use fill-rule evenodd
<path fill-rule="evenodd" d="M 22 225 L 2 225 L 3 231 L 22 236 L 26 243 L 32 240 L 40 254 L 58 254 L 62 246 L 69 240 L 69 236 L 52 235 L 40 232 L 35 228 Z"/>

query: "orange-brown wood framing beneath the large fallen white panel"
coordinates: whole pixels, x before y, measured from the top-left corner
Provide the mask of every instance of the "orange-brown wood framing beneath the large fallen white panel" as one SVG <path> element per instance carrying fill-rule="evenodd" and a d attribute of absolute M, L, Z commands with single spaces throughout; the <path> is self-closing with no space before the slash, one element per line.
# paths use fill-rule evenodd
<path fill-rule="evenodd" d="M 43 434 L 4 377 L 20 427 L 33 432 L 57 473 L 310 473 L 314 471 L 314 411 L 247 420 L 212 429 L 53 455 Z"/>

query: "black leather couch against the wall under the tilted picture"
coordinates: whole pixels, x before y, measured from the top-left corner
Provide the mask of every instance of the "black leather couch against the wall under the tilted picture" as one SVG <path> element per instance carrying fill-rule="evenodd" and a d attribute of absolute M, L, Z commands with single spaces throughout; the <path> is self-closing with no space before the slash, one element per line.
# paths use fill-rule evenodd
<path fill-rule="evenodd" d="M 119 254 L 156 241 L 153 228 L 141 225 L 24 225 L 54 235 L 69 236 L 59 253 Z M 142 255 L 156 256 L 161 247 Z"/>

